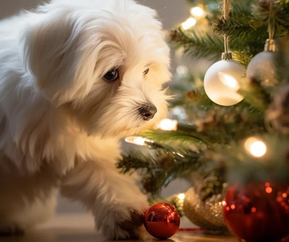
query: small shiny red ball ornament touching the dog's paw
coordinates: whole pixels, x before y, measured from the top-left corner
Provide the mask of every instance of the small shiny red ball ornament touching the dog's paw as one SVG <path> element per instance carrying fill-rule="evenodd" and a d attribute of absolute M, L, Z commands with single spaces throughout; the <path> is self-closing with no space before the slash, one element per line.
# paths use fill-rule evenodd
<path fill-rule="evenodd" d="M 180 226 L 180 215 L 170 204 L 160 202 L 150 206 L 144 213 L 144 227 L 157 239 L 173 236 Z"/>

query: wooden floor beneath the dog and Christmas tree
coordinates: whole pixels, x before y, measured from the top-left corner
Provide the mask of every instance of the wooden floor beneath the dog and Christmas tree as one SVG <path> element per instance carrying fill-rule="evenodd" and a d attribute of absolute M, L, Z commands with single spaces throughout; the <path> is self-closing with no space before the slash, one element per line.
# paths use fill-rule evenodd
<path fill-rule="evenodd" d="M 182 222 L 181 222 L 182 224 Z M 185 221 L 184 227 L 188 224 Z M 192 225 L 193 226 L 193 225 Z M 53 220 L 42 225 L 34 232 L 25 236 L 0 237 L 0 242 L 96 242 L 106 241 L 103 236 L 94 231 L 93 218 L 87 214 L 67 214 L 58 215 Z M 124 240 L 122 240 L 124 241 Z M 134 240 L 137 241 L 137 240 Z M 158 241 L 149 234 L 143 240 L 138 241 Z M 200 231 L 180 231 L 170 239 L 165 241 L 175 242 L 237 242 L 231 236 L 205 235 Z"/>

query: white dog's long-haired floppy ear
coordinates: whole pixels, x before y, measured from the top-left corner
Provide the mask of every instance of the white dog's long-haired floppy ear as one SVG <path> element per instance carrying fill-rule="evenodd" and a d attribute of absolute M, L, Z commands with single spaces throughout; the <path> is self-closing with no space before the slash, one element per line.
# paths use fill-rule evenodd
<path fill-rule="evenodd" d="M 40 15 L 24 33 L 26 68 L 50 101 L 81 100 L 91 88 L 96 62 L 83 23 L 72 13 Z"/>

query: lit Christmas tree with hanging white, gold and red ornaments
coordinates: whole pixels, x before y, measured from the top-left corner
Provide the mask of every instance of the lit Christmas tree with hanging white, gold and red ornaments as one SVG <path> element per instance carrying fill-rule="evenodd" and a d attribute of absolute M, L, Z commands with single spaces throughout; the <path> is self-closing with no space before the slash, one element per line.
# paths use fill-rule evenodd
<path fill-rule="evenodd" d="M 117 166 L 139 172 L 152 198 L 175 178 L 193 179 L 185 201 L 170 202 L 203 228 L 229 228 L 247 241 L 281 239 L 289 225 L 289 1 L 190 2 L 190 18 L 168 39 L 195 60 L 216 63 L 201 76 L 179 70 L 170 84 L 176 95 L 171 119 L 128 137 L 149 152 L 129 150 Z M 268 216 L 268 208 L 278 219 Z M 237 210 L 241 220 L 250 216 L 250 228 L 232 225 Z M 256 222 L 258 212 L 263 220 Z M 250 234 L 254 221 L 263 223 L 259 237 Z M 268 226 L 275 234 L 266 232 Z"/>

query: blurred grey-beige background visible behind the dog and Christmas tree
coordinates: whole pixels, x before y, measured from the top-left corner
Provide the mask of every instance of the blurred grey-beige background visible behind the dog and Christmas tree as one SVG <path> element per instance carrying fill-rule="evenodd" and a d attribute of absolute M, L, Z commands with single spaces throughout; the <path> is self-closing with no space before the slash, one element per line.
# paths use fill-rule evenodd
<path fill-rule="evenodd" d="M 81 1 L 81 0 L 80 0 Z M 39 0 L 1 0 L 0 1 L 0 19 L 7 18 L 11 15 L 18 14 L 21 10 L 33 9 L 38 3 L 46 2 Z M 186 0 L 142 0 L 141 4 L 149 6 L 158 12 L 158 16 L 163 23 L 164 29 L 170 30 L 176 25 L 180 25 L 189 17 L 189 10 L 191 5 Z M 185 16 L 185 17 L 184 17 Z M 191 60 L 184 57 L 182 52 L 175 52 L 172 50 L 172 73 L 183 75 L 184 72 L 204 72 L 209 66 L 210 62 L 204 60 Z M 197 74 L 197 73 L 195 73 Z M 124 148 L 127 148 L 125 146 Z M 162 191 L 163 197 L 168 197 L 175 193 L 185 192 L 191 184 L 185 180 L 176 180 L 168 185 Z M 57 213 L 72 213 L 82 212 L 85 209 L 77 202 L 67 201 L 63 197 L 59 197 L 57 204 Z"/>

